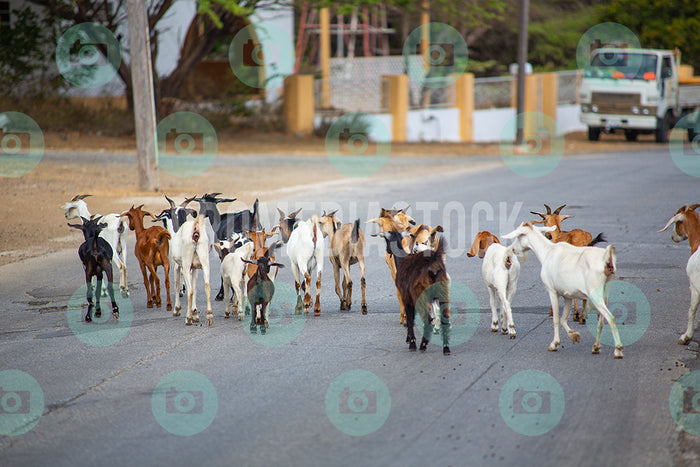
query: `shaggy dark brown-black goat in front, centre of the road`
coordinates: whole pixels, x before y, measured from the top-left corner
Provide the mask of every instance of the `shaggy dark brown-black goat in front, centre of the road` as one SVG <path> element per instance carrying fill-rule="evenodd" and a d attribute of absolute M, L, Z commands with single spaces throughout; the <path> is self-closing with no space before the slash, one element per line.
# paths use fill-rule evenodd
<path fill-rule="evenodd" d="M 416 350 L 416 336 L 413 333 L 416 308 L 423 320 L 423 339 L 420 350 L 425 351 L 433 333 L 429 308 L 439 304 L 440 334 L 442 335 L 442 353 L 450 354 L 450 279 L 445 269 L 445 242 L 440 239 L 435 250 L 407 254 L 401 246 L 403 234 L 397 231 L 380 232 L 378 235 L 386 241 L 387 253 L 394 258 L 396 265 L 396 288 L 401 302 L 406 309 L 408 333 L 406 343 L 408 350 Z"/>

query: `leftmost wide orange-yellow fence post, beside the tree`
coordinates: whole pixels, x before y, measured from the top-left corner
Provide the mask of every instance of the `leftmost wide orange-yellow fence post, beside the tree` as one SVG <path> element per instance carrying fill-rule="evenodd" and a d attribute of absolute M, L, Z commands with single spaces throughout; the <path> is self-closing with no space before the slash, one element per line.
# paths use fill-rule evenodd
<path fill-rule="evenodd" d="M 289 75 L 284 79 L 284 120 L 295 135 L 314 130 L 314 77 Z"/>

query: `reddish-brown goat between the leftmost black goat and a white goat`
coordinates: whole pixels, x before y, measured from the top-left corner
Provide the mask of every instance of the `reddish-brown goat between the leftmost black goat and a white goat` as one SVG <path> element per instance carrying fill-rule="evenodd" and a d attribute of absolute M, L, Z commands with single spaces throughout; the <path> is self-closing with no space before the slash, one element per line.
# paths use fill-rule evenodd
<path fill-rule="evenodd" d="M 137 208 L 132 205 L 131 209 L 121 214 L 121 217 L 129 219 L 129 229 L 136 234 L 134 254 L 139 260 L 141 274 L 143 275 L 143 284 L 146 288 L 146 297 L 148 298 L 146 306 L 153 308 L 154 303 L 157 307 L 161 306 L 160 280 L 158 280 L 156 268 L 163 266 L 165 271 L 166 309 L 172 310 L 173 306 L 170 302 L 170 234 L 160 226 L 144 229 L 144 216 L 153 217 L 153 214 L 141 210 L 142 207 L 143 204 Z M 148 273 L 146 272 L 147 269 Z"/>

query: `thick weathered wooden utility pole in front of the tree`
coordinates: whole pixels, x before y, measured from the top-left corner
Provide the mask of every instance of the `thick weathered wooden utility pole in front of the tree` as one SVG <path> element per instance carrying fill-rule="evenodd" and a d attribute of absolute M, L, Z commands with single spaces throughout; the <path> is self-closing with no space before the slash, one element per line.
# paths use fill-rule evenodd
<path fill-rule="evenodd" d="M 158 190 L 156 164 L 156 108 L 153 97 L 153 69 L 146 4 L 127 0 L 129 47 L 131 48 L 131 89 L 134 98 L 134 125 L 139 171 L 139 189 Z"/>

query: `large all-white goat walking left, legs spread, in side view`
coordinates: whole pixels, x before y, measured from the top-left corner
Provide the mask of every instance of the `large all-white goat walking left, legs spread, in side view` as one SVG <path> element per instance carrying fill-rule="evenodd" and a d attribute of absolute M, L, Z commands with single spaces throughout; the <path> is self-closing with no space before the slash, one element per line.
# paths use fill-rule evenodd
<path fill-rule="evenodd" d="M 622 358 L 622 341 L 615 324 L 615 317 L 605 304 L 609 281 L 616 269 L 615 247 L 577 247 L 568 243 L 553 243 L 544 236 L 556 227 L 537 227 L 532 222 L 523 223 L 503 238 L 512 238 L 517 251 L 532 250 L 542 264 L 540 278 L 549 293 L 554 321 L 554 339 L 548 350 L 559 349 L 559 297 L 564 298 L 562 327 L 571 342 L 581 340 L 579 334 L 567 322 L 571 312 L 571 301 L 587 299 L 598 310 L 598 329 L 592 353 L 600 353 L 600 335 L 603 319 L 608 322 L 615 341 L 615 358 Z"/>

